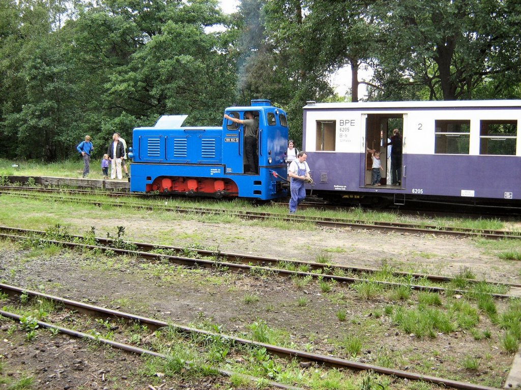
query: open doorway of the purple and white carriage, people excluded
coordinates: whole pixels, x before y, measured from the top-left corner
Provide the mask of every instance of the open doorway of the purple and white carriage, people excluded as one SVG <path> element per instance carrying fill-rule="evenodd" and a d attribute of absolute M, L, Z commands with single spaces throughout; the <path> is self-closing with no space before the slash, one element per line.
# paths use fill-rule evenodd
<path fill-rule="evenodd" d="M 364 150 L 374 149 L 380 152 L 380 163 L 382 170 L 380 170 L 381 179 L 380 185 L 388 188 L 400 188 L 405 187 L 405 177 L 403 175 L 403 166 L 405 165 L 405 159 L 403 153 L 401 154 L 402 161 L 399 164 L 400 170 L 397 171 L 398 179 L 397 185 L 392 185 L 391 180 L 391 145 L 387 145 L 393 135 L 393 130 L 398 129 L 402 135 L 403 140 L 403 128 L 404 128 L 404 117 L 406 114 L 367 114 L 366 116 L 366 129 L 365 129 L 365 140 L 366 145 Z M 403 150 L 403 146 L 402 146 Z M 362 174 L 364 183 L 363 186 L 371 187 L 371 173 L 373 168 L 373 160 L 371 154 L 366 153 L 361 164 L 361 168 L 364 169 Z"/>

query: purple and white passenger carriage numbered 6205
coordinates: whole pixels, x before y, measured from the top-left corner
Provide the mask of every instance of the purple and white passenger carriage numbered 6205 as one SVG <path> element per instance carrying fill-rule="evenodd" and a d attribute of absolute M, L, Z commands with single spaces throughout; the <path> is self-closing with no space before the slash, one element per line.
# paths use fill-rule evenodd
<path fill-rule="evenodd" d="M 387 181 L 386 143 L 403 137 L 398 185 Z M 521 100 L 308 102 L 303 148 L 313 193 L 331 202 L 403 204 L 406 199 L 517 203 L 521 199 Z M 381 185 L 371 185 L 380 150 Z"/>

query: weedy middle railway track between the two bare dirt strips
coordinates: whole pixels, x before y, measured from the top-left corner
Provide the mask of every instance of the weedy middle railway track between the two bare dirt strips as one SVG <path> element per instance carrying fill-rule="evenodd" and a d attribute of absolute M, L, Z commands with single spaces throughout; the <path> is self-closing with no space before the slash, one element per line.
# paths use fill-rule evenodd
<path fill-rule="evenodd" d="M 38 240 L 39 242 L 55 244 L 70 249 L 86 248 L 100 251 L 111 250 L 119 255 L 126 255 L 131 257 L 139 256 L 154 261 L 168 260 L 170 262 L 176 263 L 177 265 L 185 267 L 214 268 L 219 270 L 230 270 L 238 273 L 274 273 L 289 278 L 311 277 L 315 279 L 320 278 L 321 280 L 336 281 L 345 284 L 373 282 L 386 288 L 406 285 L 408 288 L 416 291 L 445 292 L 447 288 L 449 288 L 455 293 L 468 293 L 468 291 L 463 288 L 442 286 L 443 283 L 454 281 L 454 278 L 443 275 L 388 272 L 395 278 L 394 281 L 376 280 L 374 277 L 371 278 L 371 275 L 375 275 L 376 273 L 381 272 L 381 270 L 371 268 L 343 267 L 316 262 L 281 260 L 242 254 L 223 253 L 221 251 L 211 251 L 196 248 L 154 245 L 142 242 L 118 241 L 116 243 L 115 240 L 111 240 L 109 238 L 90 237 L 86 239 L 83 236 L 68 234 L 66 234 L 63 239 L 57 240 L 55 238 L 45 238 L 46 235 L 47 232 L 44 231 L 0 227 L 0 237 L 6 238 L 8 240 Z M 86 244 L 92 240 L 95 241 L 96 245 Z M 346 274 L 358 274 L 359 277 L 348 276 Z M 459 279 L 461 280 L 461 278 Z M 401 280 L 406 282 L 401 282 Z M 426 281 L 432 284 L 428 284 Z M 474 279 L 465 279 L 464 282 L 466 285 L 468 285 L 469 288 L 472 288 L 472 286 L 476 283 L 482 283 L 481 281 L 478 282 Z M 521 284 L 515 283 L 490 284 L 505 290 L 505 292 L 509 289 L 521 287 Z M 497 298 L 511 298 L 517 296 L 494 292 L 490 292 L 488 294 Z"/>

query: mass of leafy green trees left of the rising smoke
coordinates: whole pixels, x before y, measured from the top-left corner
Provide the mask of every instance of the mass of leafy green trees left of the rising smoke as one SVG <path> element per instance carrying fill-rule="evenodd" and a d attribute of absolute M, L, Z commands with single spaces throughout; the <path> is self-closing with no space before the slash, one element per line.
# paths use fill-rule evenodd
<path fill-rule="evenodd" d="M 1 1 L 3 157 L 76 155 L 85 134 L 101 155 L 113 132 L 131 140 L 163 114 L 220 124 L 233 99 L 233 30 L 206 31 L 230 23 L 216 0 L 89 2 L 67 17 Z"/>

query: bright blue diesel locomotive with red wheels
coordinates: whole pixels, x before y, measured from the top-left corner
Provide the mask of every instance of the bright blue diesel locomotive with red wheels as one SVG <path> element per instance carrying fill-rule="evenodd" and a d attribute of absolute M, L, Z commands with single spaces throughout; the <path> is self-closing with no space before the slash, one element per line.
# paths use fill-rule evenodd
<path fill-rule="evenodd" d="M 247 165 L 243 124 L 223 119 L 222 127 L 181 127 L 186 115 L 162 116 L 153 127 L 133 131 L 131 192 L 268 200 L 288 195 L 286 112 L 269 100 L 228 107 L 225 114 L 258 118 L 258 173 Z M 248 173 L 246 173 L 248 172 Z"/>

